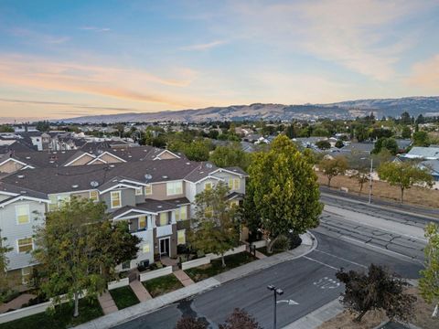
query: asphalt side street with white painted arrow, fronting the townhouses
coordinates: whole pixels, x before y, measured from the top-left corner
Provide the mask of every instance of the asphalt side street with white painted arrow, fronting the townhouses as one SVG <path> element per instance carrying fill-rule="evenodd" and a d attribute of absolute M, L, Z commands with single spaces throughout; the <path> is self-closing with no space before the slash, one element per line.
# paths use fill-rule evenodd
<path fill-rule="evenodd" d="M 272 328 L 273 294 L 266 289 L 274 284 L 284 290 L 283 300 L 298 305 L 278 304 L 278 327 L 290 324 L 305 314 L 331 302 L 343 291 L 335 278 L 339 268 L 365 270 L 370 263 L 387 266 L 404 278 L 417 278 L 421 265 L 414 260 L 382 254 L 375 250 L 316 231 L 318 246 L 305 257 L 258 271 L 240 280 L 230 281 L 187 301 L 120 324 L 118 329 L 174 328 L 182 315 L 203 317 L 216 328 L 235 307 L 252 313 L 263 328 Z"/>

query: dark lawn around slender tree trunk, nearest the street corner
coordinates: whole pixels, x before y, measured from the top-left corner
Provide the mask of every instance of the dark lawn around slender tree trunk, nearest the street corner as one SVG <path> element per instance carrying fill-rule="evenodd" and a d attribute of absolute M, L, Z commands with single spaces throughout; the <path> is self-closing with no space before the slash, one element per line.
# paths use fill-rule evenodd
<path fill-rule="evenodd" d="M 209 277 L 217 275 L 223 271 L 229 271 L 233 268 L 251 262 L 252 260 L 256 259 L 250 253 L 240 252 L 225 257 L 226 267 L 222 267 L 221 259 L 217 259 L 212 260 L 210 264 L 188 269 L 186 270 L 186 273 L 193 281 L 198 282 L 208 279 Z"/>

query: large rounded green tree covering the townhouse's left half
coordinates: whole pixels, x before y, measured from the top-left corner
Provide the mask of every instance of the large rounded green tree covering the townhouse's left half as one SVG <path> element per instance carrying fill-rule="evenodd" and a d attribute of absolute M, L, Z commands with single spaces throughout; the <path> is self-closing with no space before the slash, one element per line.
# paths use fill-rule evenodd
<path fill-rule="evenodd" d="M 37 228 L 33 256 L 46 277 L 40 289 L 56 302 L 67 294 L 74 300 L 76 317 L 80 294 L 102 293 L 114 279 L 115 266 L 136 257 L 139 242 L 126 223 L 112 225 L 104 203 L 72 197 L 59 210 L 48 212 L 46 225 Z"/>

